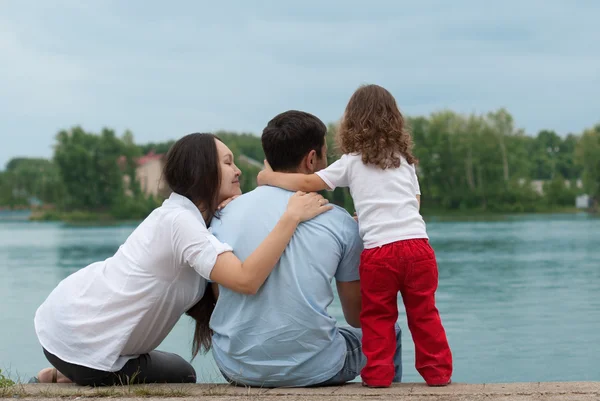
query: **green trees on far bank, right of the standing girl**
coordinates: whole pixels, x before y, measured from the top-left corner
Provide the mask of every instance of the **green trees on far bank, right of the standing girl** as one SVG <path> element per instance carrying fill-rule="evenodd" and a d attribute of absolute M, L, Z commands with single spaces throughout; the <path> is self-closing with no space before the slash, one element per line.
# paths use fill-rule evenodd
<path fill-rule="evenodd" d="M 408 119 L 419 158 L 423 210 L 534 212 L 573 206 L 578 138 L 552 131 L 526 136 L 506 110 L 463 116 L 450 111 Z M 552 180 L 544 194 L 534 180 Z M 562 182 L 562 184 L 561 184 Z M 549 193 L 546 193 L 549 191 Z"/>

